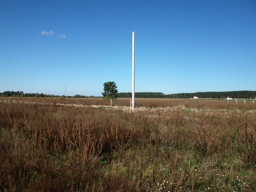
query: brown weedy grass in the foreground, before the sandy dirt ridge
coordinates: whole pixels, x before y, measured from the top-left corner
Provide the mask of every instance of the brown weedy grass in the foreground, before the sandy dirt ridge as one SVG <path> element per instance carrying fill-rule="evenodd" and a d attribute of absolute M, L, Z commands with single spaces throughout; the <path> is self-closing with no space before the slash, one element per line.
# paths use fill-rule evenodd
<path fill-rule="evenodd" d="M 0 102 L 0 191 L 256 191 L 255 105 L 141 102 L 186 108 Z"/>

